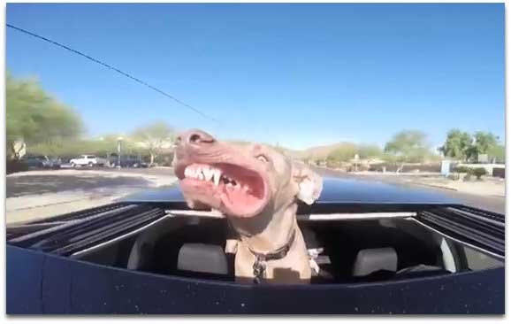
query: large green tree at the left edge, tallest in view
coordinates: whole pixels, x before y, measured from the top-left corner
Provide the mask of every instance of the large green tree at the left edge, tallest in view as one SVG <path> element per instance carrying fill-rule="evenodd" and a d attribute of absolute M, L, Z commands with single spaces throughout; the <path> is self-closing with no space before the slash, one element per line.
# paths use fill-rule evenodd
<path fill-rule="evenodd" d="M 16 143 L 47 143 L 77 138 L 83 131 L 80 116 L 61 104 L 34 80 L 6 78 L 6 135 L 11 158 L 19 158 Z"/>

